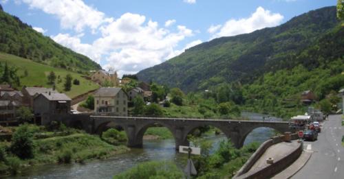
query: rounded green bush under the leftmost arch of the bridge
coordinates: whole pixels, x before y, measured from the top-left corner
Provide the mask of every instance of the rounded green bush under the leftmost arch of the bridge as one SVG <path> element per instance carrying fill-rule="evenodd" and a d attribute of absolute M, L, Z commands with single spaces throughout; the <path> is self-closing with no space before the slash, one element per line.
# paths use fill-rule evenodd
<path fill-rule="evenodd" d="M 124 131 L 109 129 L 102 134 L 102 139 L 112 145 L 120 145 L 127 142 L 127 135 Z"/>

